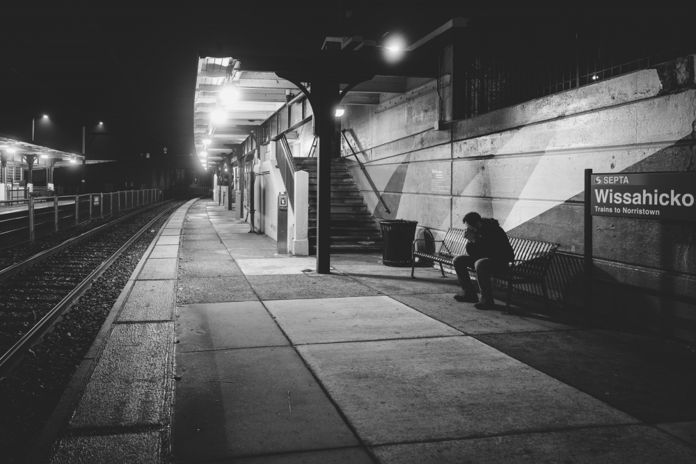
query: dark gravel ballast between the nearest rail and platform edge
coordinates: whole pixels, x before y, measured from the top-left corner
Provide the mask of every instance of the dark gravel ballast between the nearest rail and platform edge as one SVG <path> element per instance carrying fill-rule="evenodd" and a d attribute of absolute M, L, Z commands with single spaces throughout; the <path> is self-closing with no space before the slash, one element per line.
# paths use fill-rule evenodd
<path fill-rule="evenodd" d="M 52 333 L 12 373 L 0 379 L 3 462 L 24 462 L 128 278 L 170 214 L 136 240 L 73 305 Z"/>

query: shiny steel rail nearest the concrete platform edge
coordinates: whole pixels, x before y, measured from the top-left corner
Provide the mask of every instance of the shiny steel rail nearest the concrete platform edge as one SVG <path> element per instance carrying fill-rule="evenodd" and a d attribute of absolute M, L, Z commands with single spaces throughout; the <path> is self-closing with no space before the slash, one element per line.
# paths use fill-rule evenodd
<path fill-rule="evenodd" d="M 100 264 L 97 269 L 92 271 L 82 282 L 80 282 L 70 293 L 61 300 L 60 303 L 55 305 L 52 310 L 50 310 L 38 323 L 29 330 L 21 339 L 15 343 L 12 348 L 10 348 L 6 353 L 0 357 L 0 376 L 5 376 L 8 374 L 17 363 L 24 358 L 24 355 L 36 344 L 42 341 L 44 335 L 46 335 L 53 326 L 62 319 L 63 315 L 68 314 L 72 309 L 72 304 L 77 301 L 91 286 L 94 280 L 97 280 L 101 275 L 109 269 L 109 266 L 120 257 L 120 255 L 132 245 L 134 241 L 139 239 L 141 235 L 152 227 L 155 222 L 159 220 L 164 214 L 167 214 L 171 209 L 174 209 L 177 205 L 172 205 L 157 217 L 152 219 L 145 227 L 136 232 L 133 237 L 128 239 L 116 252 L 114 252 L 110 257 L 106 258 L 102 264 Z M 142 210 L 139 210 L 142 212 Z"/>

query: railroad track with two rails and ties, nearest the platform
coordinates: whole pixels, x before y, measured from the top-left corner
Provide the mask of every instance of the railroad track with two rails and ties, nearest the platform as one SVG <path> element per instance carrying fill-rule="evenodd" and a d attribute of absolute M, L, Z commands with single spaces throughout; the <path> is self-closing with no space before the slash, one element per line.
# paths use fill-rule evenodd
<path fill-rule="evenodd" d="M 49 333 L 131 243 L 181 204 L 134 211 L 0 271 L 0 376 Z"/>

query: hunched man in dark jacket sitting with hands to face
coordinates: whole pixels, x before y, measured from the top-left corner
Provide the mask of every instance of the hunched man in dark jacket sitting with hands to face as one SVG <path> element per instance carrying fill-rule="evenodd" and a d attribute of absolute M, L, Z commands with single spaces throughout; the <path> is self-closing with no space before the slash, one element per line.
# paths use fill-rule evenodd
<path fill-rule="evenodd" d="M 475 212 L 467 213 L 463 219 L 466 255 L 455 256 L 452 259 L 454 271 L 457 273 L 461 291 L 454 295 L 457 301 L 476 303 L 480 310 L 489 310 L 495 306 L 491 273 L 507 273 L 509 262 L 515 254 L 507 239 L 507 234 L 498 221 L 493 218 L 482 218 Z M 468 268 L 476 271 L 476 279 L 481 289 L 481 299 L 471 283 Z"/>

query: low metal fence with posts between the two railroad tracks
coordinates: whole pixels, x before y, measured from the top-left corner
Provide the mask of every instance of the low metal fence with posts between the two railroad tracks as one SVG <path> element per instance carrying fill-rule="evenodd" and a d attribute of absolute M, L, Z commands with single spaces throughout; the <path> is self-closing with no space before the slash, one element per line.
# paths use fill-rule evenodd
<path fill-rule="evenodd" d="M 207 194 L 209 189 L 205 189 Z M 88 223 L 153 202 L 201 195 L 196 189 L 148 189 L 85 195 L 30 195 L 0 201 L 0 248 L 33 241 L 58 230 Z"/>

